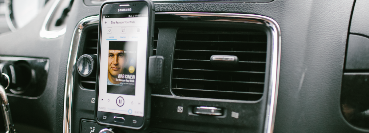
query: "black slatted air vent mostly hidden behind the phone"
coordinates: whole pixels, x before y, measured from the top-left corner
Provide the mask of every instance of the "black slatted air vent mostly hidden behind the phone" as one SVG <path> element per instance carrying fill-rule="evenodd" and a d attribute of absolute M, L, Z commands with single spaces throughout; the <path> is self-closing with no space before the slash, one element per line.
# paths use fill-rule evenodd
<path fill-rule="evenodd" d="M 98 38 L 98 29 L 93 28 L 89 29 L 85 32 L 86 38 L 83 45 L 83 54 L 97 54 L 97 38 Z M 156 54 L 156 46 L 158 46 L 158 28 L 155 28 L 154 32 L 154 55 Z M 95 89 L 96 86 L 96 78 L 85 78 L 81 77 L 81 85 L 86 89 Z"/>

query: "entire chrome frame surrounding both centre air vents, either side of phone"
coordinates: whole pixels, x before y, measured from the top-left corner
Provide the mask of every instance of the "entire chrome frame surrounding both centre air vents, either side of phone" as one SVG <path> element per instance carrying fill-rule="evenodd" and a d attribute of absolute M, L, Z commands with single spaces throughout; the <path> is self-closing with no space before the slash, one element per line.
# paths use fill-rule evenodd
<path fill-rule="evenodd" d="M 203 21 L 228 21 L 228 22 L 246 22 L 253 24 L 265 25 L 270 28 L 272 32 L 272 54 L 270 63 L 270 80 L 267 100 L 267 110 L 265 118 L 264 133 L 273 133 L 278 84 L 279 84 L 279 68 L 280 68 L 280 49 L 281 49 L 281 33 L 279 25 L 272 18 L 253 15 L 253 14 L 231 14 L 231 13 L 203 13 L 203 12 L 156 12 L 159 14 L 176 15 L 182 18 L 196 18 Z M 64 97 L 64 118 L 63 118 L 63 133 L 70 133 L 70 113 L 72 108 L 72 90 L 73 90 L 73 65 L 76 63 L 76 56 L 80 41 L 82 29 L 80 26 L 85 26 L 88 22 L 99 22 L 99 16 L 88 17 L 82 19 L 73 34 L 72 43 L 70 45 L 69 58 L 67 64 L 66 83 L 65 83 L 65 97 Z M 87 23 L 86 23 L 87 22 Z M 68 106 L 67 106 L 68 103 Z"/>

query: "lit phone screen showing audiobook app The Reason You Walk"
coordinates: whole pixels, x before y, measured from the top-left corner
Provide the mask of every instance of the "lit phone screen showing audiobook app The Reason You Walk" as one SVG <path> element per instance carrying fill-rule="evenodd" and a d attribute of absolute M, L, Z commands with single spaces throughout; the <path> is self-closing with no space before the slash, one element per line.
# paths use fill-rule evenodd
<path fill-rule="evenodd" d="M 147 7 L 103 14 L 98 111 L 144 116 Z"/>

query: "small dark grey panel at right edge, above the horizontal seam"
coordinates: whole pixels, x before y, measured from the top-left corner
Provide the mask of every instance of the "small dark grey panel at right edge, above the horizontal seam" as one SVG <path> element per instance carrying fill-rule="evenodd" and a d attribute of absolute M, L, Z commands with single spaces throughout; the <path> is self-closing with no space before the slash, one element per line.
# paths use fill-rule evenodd
<path fill-rule="evenodd" d="M 369 69 L 369 38 L 349 35 L 346 70 Z"/>

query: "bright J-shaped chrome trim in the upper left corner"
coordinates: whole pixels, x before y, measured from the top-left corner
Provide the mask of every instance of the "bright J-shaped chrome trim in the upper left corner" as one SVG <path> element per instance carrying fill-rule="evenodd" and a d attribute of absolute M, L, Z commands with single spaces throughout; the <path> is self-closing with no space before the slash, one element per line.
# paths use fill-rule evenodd
<path fill-rule="evenodd" d="M 51 38 L 56 38 L 59 37 L 61 35 L 64 35 L 66 30 L 67 30 L 67 26 L 65 25 L 62 29 L 57 29 L 57 30 L 46 30 L 46 26 L 49 22 L 49 19 L 51 17 L 51 15 L 53 14 L 56 6 L 58 6 L 60 0 L 55 0 L 54 3 L 52 4 L 49 12 L 47 13 L 44 23 L 41 26 L 41 30 L 40 30 L 40 37 L 45 38 L 45 39 L 51 39 Z"/>

